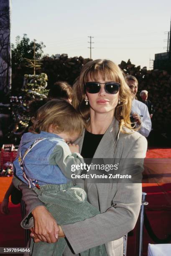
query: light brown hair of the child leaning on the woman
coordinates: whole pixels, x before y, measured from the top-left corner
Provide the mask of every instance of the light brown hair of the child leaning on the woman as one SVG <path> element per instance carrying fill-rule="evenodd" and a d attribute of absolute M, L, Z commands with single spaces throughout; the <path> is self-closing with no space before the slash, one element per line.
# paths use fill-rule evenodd
<path fill-rule="evenodd" d="M 84 120 L 81 115 L 66 100 L 50 100 L 37 110 L 36 116 L 31 118 L 33 125 L 29 132 L 48 132 L 50 125 L 56 133 L 82 134 Z"/>

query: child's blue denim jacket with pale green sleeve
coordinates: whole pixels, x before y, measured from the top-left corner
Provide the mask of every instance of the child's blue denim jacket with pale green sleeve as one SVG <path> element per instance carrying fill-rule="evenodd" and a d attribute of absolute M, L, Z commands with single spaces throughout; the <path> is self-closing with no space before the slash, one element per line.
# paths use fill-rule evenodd
<path fill-rule="evenodd" d="M 21 157 L 34 141 L 46 138 L 34 146 L 23 160 L 26 177 L 37 180 L 38 184 L 64 184 L 71 180 L 71 164 L 80 164 L 83 158 L 79 153 L 71 153 L 67 143 L 54 133 L 41 131 L 39 134 L 25 133 L 20 141 L 18 155 L 13 162 L 15 175 L 23 178 L 23 170 L 19 164 Z M 79 174 L 79 171 L 74 174 Z M 33 185 L 31 186 L 33 187 Z"/>

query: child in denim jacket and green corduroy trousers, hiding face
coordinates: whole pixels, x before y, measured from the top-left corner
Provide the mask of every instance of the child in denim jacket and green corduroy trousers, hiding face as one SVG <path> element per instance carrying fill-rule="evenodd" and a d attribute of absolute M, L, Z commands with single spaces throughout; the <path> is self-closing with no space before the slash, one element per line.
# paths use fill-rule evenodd
<path fill-rule="evenodd" d="M 59 225 L 100 213 L 87 202 L 86 192 L 71 181 L 71 164 L 84 163 L 79 146 L 67 145 L 82 134 L 84 123 L 80 115 L 68 102 L 51 100 L 39 108 L 32 121 L 13 162 L 15 175 L 35 191 Z M 65 238 L 56 243 L 34 243 L 31 238 L 31 255 L 60 256 L 65 246 Z M 107 254 L 105 245 L 101 245 L 81 255 Z"/>

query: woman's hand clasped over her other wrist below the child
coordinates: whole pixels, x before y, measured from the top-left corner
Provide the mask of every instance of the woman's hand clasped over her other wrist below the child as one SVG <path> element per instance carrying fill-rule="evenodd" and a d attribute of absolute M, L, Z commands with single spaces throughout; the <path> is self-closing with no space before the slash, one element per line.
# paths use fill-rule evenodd
<path fill-rule="evenodd" d="M 51 213 L 48 212 L 46 207 L 41 205 L 32 211 L 32 215 L 34 218 L 33 234 L 39 240 L 36 242 L 55 243 L 58 240 L 59 226 Z"/>

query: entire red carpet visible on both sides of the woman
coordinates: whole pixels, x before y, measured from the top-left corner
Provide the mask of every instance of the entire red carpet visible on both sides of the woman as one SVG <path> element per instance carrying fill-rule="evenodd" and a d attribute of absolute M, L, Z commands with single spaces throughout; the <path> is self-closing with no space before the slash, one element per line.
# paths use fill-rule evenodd
<path fill-rule="evenodd" d="M 147 158 L 171 158 L 171 148 L 153 148 L 147 152 Z M 11 177 L 0 178 L 0 202 L 11 182 Z M 143 184 L 143 191 L 147 192 L 146 213 L 154 233 L 158 238 L 166 238 L 171 233 L 171 184 L 153 183 Z M 9 204 L 9 215 L 0 213 L 0 247 L 24 246 L 24 232 L 20 227 L 20 205 Z M 135 255 L 135 230 L 134 236 L 128 238 L 127 256 Z M 154 243 L 144 228 L 143 256 L 147 255 L 148 243 Z M 7 255 L 7 254 L 6 254 Z M 9 254 L 11 255 L 11 254 Z"/>

